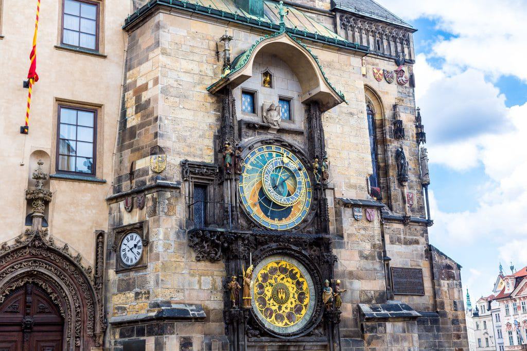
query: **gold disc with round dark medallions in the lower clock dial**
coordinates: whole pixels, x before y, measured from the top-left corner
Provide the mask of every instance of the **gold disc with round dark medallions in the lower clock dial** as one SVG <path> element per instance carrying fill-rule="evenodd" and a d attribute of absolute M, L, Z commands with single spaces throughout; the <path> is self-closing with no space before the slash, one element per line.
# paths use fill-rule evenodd
<path fill-rule="evenodd" d="M 289 327 L 305 317 L 309 289 L 295 265 L 283 260 L 270 262 L 258 272 L 253 289 L 254 303 L 269 323 Z"/>

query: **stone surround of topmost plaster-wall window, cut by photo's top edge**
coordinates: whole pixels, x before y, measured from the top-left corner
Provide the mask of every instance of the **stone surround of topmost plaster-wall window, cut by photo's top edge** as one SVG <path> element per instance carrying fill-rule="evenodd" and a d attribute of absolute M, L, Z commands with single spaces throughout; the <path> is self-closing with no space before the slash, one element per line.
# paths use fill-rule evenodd
<path fill-rule="evenodd" d="M 96 56 L 105 58 L 104 48 L 104 10 L 105 2 L 103 0 L 75 0 L 81 3 L 87 3 L 97 5 L 97 24 L 96 24 L 96 38 L 95 38 L 95 49 L 84 48 L 80 46 L 73 46 L 70 44 L 63 43 L 63 31 L 64 31 L 64 4 L 65 0 L 61 0 L 60 6 L 58 6 L 58 21 L 57 21 L 57 44 L 55 48 L 61 51 L 69 51 L 77 54 L 84 54 L 90 56 Z"/>

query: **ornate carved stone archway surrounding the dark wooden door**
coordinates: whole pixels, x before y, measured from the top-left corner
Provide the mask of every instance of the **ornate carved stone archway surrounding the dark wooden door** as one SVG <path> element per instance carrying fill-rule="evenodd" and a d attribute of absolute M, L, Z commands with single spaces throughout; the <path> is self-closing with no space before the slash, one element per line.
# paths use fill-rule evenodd
<path fill-rule="evenodd" d="M 65 319 L 67 349 L 99 347 L 106 328 L 103 280 L 94 286 L 90 267 L 75 260 L 69 248 L 59 247 L 47 230 L 27 230 L 14 245 L 0 252 L 0 303 L 14 289 L 31 282 L 40 286 L 57 304 Z M 103 251 L 96 263 L 104 263 Z M 103 269 L 103 268 L 100 268 Z"/>

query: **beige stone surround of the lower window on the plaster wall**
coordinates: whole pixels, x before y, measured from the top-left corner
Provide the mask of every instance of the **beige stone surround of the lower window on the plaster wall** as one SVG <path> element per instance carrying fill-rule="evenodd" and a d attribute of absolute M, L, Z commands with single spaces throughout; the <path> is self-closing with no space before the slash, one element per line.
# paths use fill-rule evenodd
<path fill-rule="evenodd" d="M 77 173 L 77 172 L 64 172 L 64 171 L 58 171 L 58 128 L 59 128 L 59 108 L 62 107 L 70 107 L 70 108 L 79 108 L 79 109 L 88 109 L 88 110 L 95 110 L 96 116 L 95 116 L 95 137 L 94 137 L 94 173 Z M 77 177 L 75 180 L 83 181 L 86 180 L 87 182 L 90 182 L 91 180 L 96 181 L 103 181 L 102 175 L 103 175 L 103 162 L 104 162 L 104 153 L 103 153 L 103 146 L 104 146 L 104 108 L 101 104 L 94 104 L 94 103 L 87 103 L 87 102 L 81 102 L 81 101 L 74 101 L 70 99 L 64 99 L 64 98 L 55 98 L 55 103 L 53 106 L 53 126 L 52 126 L 52 148 L 51 148 L 51 165 L 52 165 L 52 171 L 54 171 L 54 174 L 52 174 L 50 177 L 53 179 L 65 179 L 65 180 L 73 180 L 69 179 L 68 177 Z M 56 175 L 60 175 L 60 177 L 55 177 Z"/>

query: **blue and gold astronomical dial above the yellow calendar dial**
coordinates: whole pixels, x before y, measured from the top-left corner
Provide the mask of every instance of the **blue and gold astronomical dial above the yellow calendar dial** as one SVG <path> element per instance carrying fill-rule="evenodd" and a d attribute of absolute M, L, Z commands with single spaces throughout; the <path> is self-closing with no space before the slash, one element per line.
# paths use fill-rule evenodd
<path fill-rule="evenodd" d="M 284 147 L 253 149 L 243 162 L 238 186 L 249 216 L 266 228 L 290 229 L 309 213 L 311 180 L 300 159 Z"/>

